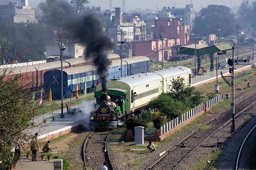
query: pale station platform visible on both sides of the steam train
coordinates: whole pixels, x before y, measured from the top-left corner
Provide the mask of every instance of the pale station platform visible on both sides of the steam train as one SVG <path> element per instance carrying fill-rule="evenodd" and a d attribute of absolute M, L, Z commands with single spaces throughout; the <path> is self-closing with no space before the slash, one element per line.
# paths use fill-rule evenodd
<path fill-rule="evenodd" d="M 256 57 L 254 60 L 250 61 L 249 63 L 239 63 L 235 65 L 235 73 L 246 71 L 255 67 L 256 64 Z M 223 72 L 224 75 L 229 74 L 229 67 L 218 69 L 218 78 L 221 78 L 220 72 Z M 192 86 L 200 86 L 205 83 L 216 81 L 216 71 L 209 71 L 204 73 L 204 76 L 196 76 L 192 78 L 191 85 Z M 48 141 L 52 138 L 59 137 L 63 134 L 76 131 L 81 126 L 85 128 L 89 128 L 89 116 L 90 112 L 93 111 L 93 101 L 86 101 L 79 104 L 79 109 L 81 112 L 77 112 L 73 115 L 66 113 L 66 108 L 63 110 L 65 111 L 65 117 L 61 118 L 61 110 L 57 110 L 53 112 L 53 115 L 56 116 L 55 120 L 52 121 L 52 113 L 44 114 L 43 116 L 37 117 L 34 121 L 36 124 L 40 124 L 38 127 L 29 129 L 28 131 L 33 135 L 36 132 L 38 133 L 38 139 L 40 141 Z M 72 108 L 77 108 L 78 106 L 72 106 Z M 43 123 L 43 119 L 47 118 L 47 122 Z"/>

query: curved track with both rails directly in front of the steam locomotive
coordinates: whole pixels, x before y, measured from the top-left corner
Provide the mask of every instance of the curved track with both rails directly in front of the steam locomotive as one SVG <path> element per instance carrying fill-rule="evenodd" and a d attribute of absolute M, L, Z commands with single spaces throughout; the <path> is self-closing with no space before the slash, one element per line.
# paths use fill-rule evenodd
<path fill-rule="evenodd" d="M 109 139 L 114 131 L 89 133 L 83 143 L 83 163 L 85 169 L 99 169 L 103 162 L 113 169 L 109 156 Z"/>

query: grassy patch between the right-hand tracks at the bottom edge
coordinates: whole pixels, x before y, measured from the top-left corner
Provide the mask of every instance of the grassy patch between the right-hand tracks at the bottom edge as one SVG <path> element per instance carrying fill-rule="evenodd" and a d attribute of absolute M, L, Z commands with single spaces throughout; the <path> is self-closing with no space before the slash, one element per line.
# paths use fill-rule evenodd
<path fill-rule="evenodd" d="M 214 159 L 217 157 L 220 158 L 222 155 L 223 155 L 223 151 L 211 152 L 207 154 L 202 161 L 195 163 L 193 165 L 192 170 L 209 169 Z M 210 161 L 210 163 L 207 163 L 207 161 Z M 214 167 L 213 169 L 216 169 L 216 167 Z"/>

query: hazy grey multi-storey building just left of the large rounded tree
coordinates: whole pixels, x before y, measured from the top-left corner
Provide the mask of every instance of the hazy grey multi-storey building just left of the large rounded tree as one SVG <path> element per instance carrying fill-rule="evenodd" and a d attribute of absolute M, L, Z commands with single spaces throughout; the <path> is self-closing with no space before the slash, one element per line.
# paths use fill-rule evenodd
<path fill-rule="evenodd" d="M 186 4 L 186 8 L 164 7 L 160 12 L 160 17 L 179 18 L 182 20 L 181 24 L 188 24 L 191 31 L 195 20 L 195 10 L 193 4 Z"/>

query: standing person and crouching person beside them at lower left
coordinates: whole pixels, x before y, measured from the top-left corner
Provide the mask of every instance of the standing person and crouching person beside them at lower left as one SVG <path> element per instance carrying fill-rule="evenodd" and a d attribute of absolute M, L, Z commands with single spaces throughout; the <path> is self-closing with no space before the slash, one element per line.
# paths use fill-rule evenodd
<path fill-rule="evenodd" d="M 37 152 L 38 152 L 38 141 L 37 141 L 38 133 L 35 134 L 35 136 L 31 139 L 30 143 L 30 149 L 32 152 L 32 161 L 37 161 Z M 46 144 L 43 146 L 42 151 L 47 153 L 50 152 L 50 141 L 46 142 Z"/>

